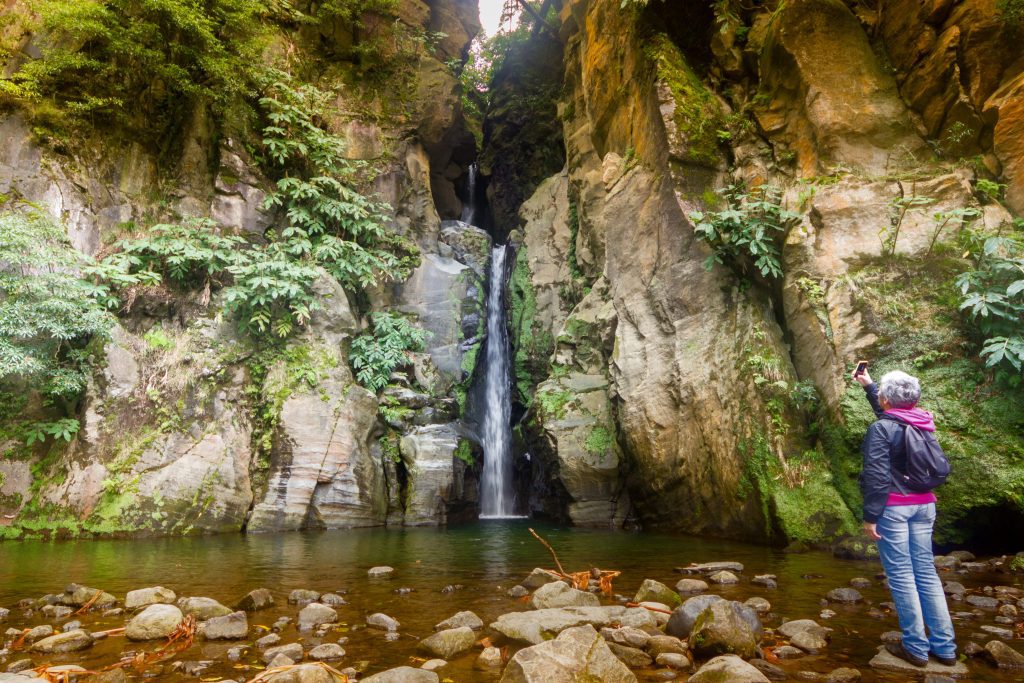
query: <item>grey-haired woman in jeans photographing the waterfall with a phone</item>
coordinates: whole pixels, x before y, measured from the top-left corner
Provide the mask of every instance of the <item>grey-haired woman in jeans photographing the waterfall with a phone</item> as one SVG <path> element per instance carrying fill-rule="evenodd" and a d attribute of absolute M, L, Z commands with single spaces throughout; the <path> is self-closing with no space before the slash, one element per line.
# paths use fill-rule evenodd
<path fill-rule="evenodd" d="M 854 373 L 879 418 L 864 435 L 860 492 L 864 496 L 864 532 L 879 542 L 879 555 L 903 631 L 901 643 L 886 649 L 915 667 L 931 654 L 940 664 L 956 664 L 956 643 L 942 583 L 935 571 L 932 527 L 935 494 L 904 488 L 893 472 L 906 470 L 903 431 L 913 425 L 935 431 L 932 415 L 918 408 L 921 383 L 899 371 L 886 373 L 879 386 L 867 372 Z M 928 628 L 926 636 L 925 628 Z"/>

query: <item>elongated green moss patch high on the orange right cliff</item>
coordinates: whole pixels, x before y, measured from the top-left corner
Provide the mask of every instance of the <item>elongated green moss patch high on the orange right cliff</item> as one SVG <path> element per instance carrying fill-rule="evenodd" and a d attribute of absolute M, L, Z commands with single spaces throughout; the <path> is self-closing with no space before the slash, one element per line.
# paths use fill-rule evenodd
<path fill-rule="evenodd" d="M 685 157 L 694 164 L 717 166 L 722 157 L 718 131 L 726 127 L 726 120 L 715 94 L 668 36 L 653 36 L 644 51 L 676 100 L 673 119 L 679 134 L 685 138 Z"/>

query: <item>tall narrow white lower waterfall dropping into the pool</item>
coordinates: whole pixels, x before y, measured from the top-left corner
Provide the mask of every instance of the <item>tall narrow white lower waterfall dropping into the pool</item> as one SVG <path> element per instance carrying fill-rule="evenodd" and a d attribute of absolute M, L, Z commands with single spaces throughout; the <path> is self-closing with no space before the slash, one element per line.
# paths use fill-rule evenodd
<path fill-rule="evenodd" d="M 506 245 L 490 251 L 490 288 L 487 292 L 487 353 L 483 376 L 483 477 L 480 517 L 515 514 L 512 490 L 512 396 L 509 386 L 509 340 L 505 329 Z"/>

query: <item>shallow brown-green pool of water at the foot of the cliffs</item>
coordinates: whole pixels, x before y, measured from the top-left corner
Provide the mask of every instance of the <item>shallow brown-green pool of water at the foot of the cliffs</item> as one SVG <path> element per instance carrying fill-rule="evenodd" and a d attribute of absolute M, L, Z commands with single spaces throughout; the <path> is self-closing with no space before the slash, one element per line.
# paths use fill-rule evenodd
<path fill-rule="evenodd" d="M 527 609 L 505 591 L 519 583 L 536 566 L 553 567 L 548 551 L 527 531 L 534 526 L 558 552 L 568 571 L 589 567 L 618 569 L 615 592 L 632 596 L 645 579 L 670 587 L 681 578 L 674 567 L 690 562 L 734 560 L 745 569 L 737 586 L 716 592 L 723 597 L 744 600 L 758 595 L 772 604 L 774 626 L 781 620 L 818 618 L 821 600 L 833 588 L 846 586 L 854 577 L 872 579 L 861 593 L 869 604 L 831 605 L 838 614 L 827 626 L 835 629 L 831 644 L 822 655 L 780 663 L 784 669 L 828 672 L 837 667 L 859 669 L 866 681 L 897 681 L 872 673 L 867 661 L 884 631 L 896 629 L 893 614 L 872 617 L 870 604 L 889 599 L 885 587 L 876 580 L 881 570 L 872 562 L 837 560 L 818 552 L 785 554 L 761 546 L 696 539 L 665 533 L 626 533 L 538 525 L 528 520 L 480 521 L 475 524 L 437 528 L 354 529 L 311 533 L 217 536 L 189 539 L 146 539 L 126 541 L 7 542 L 0 544 L 0 606 L 13 607 L 27 597 L 55 593 L 70 583 L 101 588 L 123 599 L 137 588 L 164 586 L 178 596 L 206 596 L 231 605 L 255 588 L 267 588 L 274 595 L 273 608 L 250 615 L 250 626 L 269 627 L 279 616 L 295 617 L 298 607 L 287 603 L 289 592 L 297 588 L 321 592 L 346 591 L 347 605 L 338 607 L 341 624 L 323 642 L 347 638 L 347 654 L 338 666 L 361 663 L 368 673 L 390 667 L 416 664 L 419 639 L 433 632 L 433 625 L 463 609 L 471 609 L 494 621 L 508 611 Z M 370 579 L 367 570 L 377 565 L 395 568 L 387 580 Z M 755 573 L 774 573 L 778 589 L 767 590 L 750 583 Z M 969 589 L 995 585 L 1019 585 L 1010 574 L 955 577 Z M 457 586 L 456 590 L 445 590 Z M 397 593 L 396 589 L 413 589 Z M 607 601 L 611 604 L 613 601 Z M 953 609 L 967 610 L 957 605 Z M 362 628 L 366 616 L 382 611 L 401 623 L 401 638 L 386 642 L 384 634 Z M 963 647 L 983 624 L 992 624 L 993 613 L 957 622 Z M 85 628 L 96 631 L 124 625 L 124 617 L 87 615 Z M 819 620 L 820 621 L 820 620 Z M 18 628 L 44 623 L 26 621 L 17 610 L 3 627 Z M 302 640 L 308 647 L 321 640 L 299 634 L 294 627 L 282 632 L 282 643 Z M 986 642 L 987 638 L 978 638 Z M 238 643 L 197 643 L 178 659 L 217 659 L 204 672 L 204 680 L 219 678 L 246 680 L 258 671 L 258 653 L 253 650 L 240 663 L 229 663 L 226 650 Z M 1024 642 L 1012 643 L 1024 651 Z M 155 647 L 155 646 L 148 646 Z M 511 645 L 515 649 L 516 645 Z M 56 664 L 81 664 L 98 669 L 116 661 L 122 651 L 137 650 L 137 644 L 115 637 L 101 641 L 83 653 L 48 658 Z M 19 654 L 17 657 L 24 656 Z M 464 655 L 441 670 L 442 680 L 487 681 L 497 678 L 473 669 L 475 653 Z M 39 659 L 39 664 L 42 659 Z M 1000 674 L 980 663 L 972 663 L 973 679 L 979 681 L 1020 680 L 1018 675 Z M 250 668 L 251 667 L 251 668 Z M 261 666 L 260 666 L 261 668 Z M 2 670 L 2 669 L 0 669 Z M 643 673 L 639 672 L 641 678 Z M 650 672 L 653 673 L 653 670 Z M 160 680 L 189 680 L 157 666 L 148 670 Z M 141 679 L 141 676 L 137 676 Z M 195 678 L 190 680 L 197 680 Z"/>

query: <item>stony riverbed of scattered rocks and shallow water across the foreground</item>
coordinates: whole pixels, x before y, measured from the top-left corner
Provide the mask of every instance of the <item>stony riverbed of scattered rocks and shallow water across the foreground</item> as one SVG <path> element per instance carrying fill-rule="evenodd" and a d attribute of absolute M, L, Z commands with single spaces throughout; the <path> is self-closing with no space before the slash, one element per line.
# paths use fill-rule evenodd
<path fill-rule="evenodd" d="M 881 649 L 898 633 L 877 572 L 825 583 L 725 558 L 620 577 L 607 595 L 542 568 L 515 585 L 413 588 L 415 569 L 382 565 L 344 587 L 244 595 L 72 584 L 0 609 L 0 681 L 1020 680 L 1024 589 L 1011 560 L 937 558 L 964 654 L 951 668 L 915 670 Z"/>

